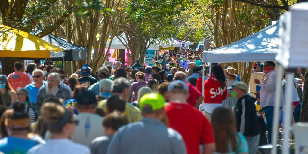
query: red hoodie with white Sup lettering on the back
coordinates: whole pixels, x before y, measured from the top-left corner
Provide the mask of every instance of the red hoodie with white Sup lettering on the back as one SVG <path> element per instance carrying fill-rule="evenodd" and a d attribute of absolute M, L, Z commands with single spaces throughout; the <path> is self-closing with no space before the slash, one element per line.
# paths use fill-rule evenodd
<path fill-rule="evenodd" d="M 211 76 L 209 79 L 204 82 L 204 103 L 215 103 L 221 104 L 222 100 L 227 98 L 228 91 L 226 90 L 227 85 L 225 84 L 225 88 L 221 89 L 221 83 L 219 83 L 215 76 Z M 197 89 L 198 91 L 202 91 L 202 78 L 199 77 L 197 79 Z"/>

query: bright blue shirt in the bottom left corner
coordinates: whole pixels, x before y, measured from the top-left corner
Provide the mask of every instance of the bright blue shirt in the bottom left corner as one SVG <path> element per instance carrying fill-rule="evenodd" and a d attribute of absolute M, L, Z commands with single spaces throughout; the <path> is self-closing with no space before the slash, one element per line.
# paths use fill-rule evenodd
<path fill-rule="evenodd" d="M 5 154 L 26 154 L 37 143 L 34 140 L 5 137 L 0 139 L 0 151 Z"/>

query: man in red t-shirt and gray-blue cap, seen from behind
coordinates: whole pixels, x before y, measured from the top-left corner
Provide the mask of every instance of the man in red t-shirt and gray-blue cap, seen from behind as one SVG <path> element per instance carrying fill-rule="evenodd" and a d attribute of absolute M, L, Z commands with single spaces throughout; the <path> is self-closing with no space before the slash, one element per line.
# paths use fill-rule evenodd
<path fill-rule="evenodd" d="M 188 154 L 199 153 L 199 144 L 203 147 L 202 154 L 213 153 L 215 140 L 211 124 L 197 108 L 187 103 L 188 97 L 188 85 L 184 81 L 176 80 L 168 85 L 169 102 L 165 110 L 170 128 L 183 136 Z"/>

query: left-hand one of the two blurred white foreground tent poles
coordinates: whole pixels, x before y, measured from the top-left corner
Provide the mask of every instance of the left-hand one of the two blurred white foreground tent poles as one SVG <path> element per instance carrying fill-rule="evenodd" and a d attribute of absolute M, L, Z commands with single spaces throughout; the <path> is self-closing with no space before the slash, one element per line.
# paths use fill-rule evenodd
<path fill-rule="evenodd" d="M 275 105 L 274 105 L 274 116 L 273 116 L 273 129 L 272 129 L 272 143 L 274 147 L 277 144 L 278 140 L 278 121 L 279 121 L 279 111 L 280 111 L 280 97 L 281 97 L 281 89 L 282 89 L 282 66 L 277 66 L 277 78 L 276 78 L 276 88 L 275 88 Z M 277 148 L 272 148 L 271 154 L 277 154 Z"/>

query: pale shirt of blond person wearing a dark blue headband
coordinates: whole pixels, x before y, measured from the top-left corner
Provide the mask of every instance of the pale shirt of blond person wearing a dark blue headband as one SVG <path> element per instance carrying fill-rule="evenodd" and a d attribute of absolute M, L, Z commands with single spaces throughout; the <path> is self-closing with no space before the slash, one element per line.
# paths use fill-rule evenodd
<path fill-rule="evenodd" d="M 46 144 L 35 145 L 27 154 L 91 154 L 87 146 L 74 143 L 69 139 L 49 139 Z"/>

